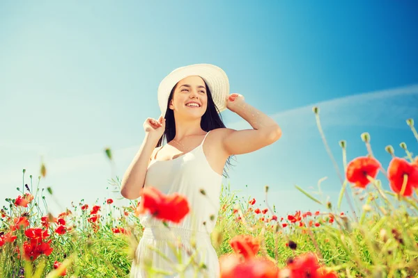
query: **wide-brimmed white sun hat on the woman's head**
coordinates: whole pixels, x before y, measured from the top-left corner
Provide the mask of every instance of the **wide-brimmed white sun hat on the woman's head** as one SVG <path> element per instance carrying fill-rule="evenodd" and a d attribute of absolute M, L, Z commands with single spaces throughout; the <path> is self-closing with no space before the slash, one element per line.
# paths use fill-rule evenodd
<path fill-rule="evenodd" d="M 229 79 L 224 70 L 210 64 L 187 65 L 173 70 L 173 72 L 164 77 L 158 86 L 158 106 L 160 106 L 163 117 L 166 113 L 167 101 L 174 85 L 191 75 L 201 76 L 206 82 L 219 113 L 226 109 L 226 96 L 229 95 Z"/>

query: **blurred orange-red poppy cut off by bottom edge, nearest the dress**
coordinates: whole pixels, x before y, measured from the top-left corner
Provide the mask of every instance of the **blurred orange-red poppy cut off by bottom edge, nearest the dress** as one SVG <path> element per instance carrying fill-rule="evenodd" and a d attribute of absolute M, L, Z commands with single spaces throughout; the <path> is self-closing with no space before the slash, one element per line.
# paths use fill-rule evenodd
<path fill-rule="evenodd" d="M 219 258 L 219 266 L 220 278 L 277 278 L 279 275 L 277 265 L 264 258 L 252 257 L 242 261 L 236 254 L 224 254 Z"/>

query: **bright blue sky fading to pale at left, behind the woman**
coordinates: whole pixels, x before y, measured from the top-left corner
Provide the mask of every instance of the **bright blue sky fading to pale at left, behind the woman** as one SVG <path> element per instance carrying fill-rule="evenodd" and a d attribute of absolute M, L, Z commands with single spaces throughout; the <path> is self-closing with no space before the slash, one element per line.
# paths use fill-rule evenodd
<path fill-rule="evenodd" d="M 364 155 L 364 131 L 384 167 L 386 145 L 403 156 L 398 144 L 406 142 L 418 154 L 405 124 L 418 122 L 416 10 L 413 1 L 2 2 L 0 204 L 17 196 L 23 168 L 26 183 L 38 177 L 41 156 L 41 186 L 61 206 L 118 197 L 106 189 L 104 147 L 122 177 L 144 120 L 160 115 L 160 81 L 194 63 L 222 67 L 231 92 L 283 129 L 274 145 L 238 156 L 224 183 L 258 204 L 269 185 L 269 202 L 284 215 L 318 208 L 294 185 L 314 191 L 327 177 L 324 194 L 336 202 L 341 185 L 311 108 L 320 106 L 340 167 L 338 141 L 348 141 L 348 159 Z M 249 128 L 231 111 L 222 117 Z"/>

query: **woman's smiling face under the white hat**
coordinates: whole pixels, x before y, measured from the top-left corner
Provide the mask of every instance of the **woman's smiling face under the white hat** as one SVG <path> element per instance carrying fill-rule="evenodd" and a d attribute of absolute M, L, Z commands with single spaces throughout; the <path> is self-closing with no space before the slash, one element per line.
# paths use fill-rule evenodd
<path fill-rule="evenodd" d="M 169 108 L 176 117 L 202 117 L 208 106 L 206 85 L 200 76 L 187 76 L 177 83 Z"/>

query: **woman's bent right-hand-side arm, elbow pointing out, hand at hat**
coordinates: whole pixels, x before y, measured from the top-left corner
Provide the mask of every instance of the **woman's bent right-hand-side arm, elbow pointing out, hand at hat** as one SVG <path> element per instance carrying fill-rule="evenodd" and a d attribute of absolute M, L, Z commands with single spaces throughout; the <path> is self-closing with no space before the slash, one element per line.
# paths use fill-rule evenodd
<path fill-rule="evenodd" d="M 247 104 L 242 95 L 232 94 L 226 106 L 253 127 L 241 131 L 225 129 L 222 145 L 229 156 L 254 152 L 271 145 L 281 137 L 280 126 L 271 117 Z"/>

